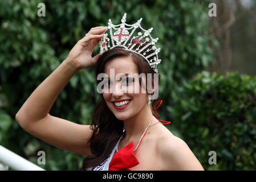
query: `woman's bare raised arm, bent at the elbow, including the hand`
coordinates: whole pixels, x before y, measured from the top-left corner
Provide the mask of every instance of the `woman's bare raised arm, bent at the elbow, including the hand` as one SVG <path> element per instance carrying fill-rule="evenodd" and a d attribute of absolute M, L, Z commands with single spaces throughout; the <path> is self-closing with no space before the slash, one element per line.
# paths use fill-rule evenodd
<path fill-rule="evenodd" d="M 91 57 L 94 48 L 105 27 L 91 28 L 72 48 L 54 72 L 51 73 L 35 90 L 19 109 L 15 118 L 19 125 L 37 138 L 56 147 L 78 154 L 91 155 L 87 143 L 91 138 L 90 125 L 79 125 L 66 119 L 54 117 L 49 111 L 59 93 L 67 85 L 70 78 L 80 69 L 94 65 L 99 54 Z"/>

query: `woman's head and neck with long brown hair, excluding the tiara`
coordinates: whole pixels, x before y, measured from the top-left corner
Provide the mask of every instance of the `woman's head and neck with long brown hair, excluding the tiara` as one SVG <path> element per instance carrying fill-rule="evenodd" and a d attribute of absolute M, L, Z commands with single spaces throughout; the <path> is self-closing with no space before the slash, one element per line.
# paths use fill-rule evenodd
<path fill-rule="evenodd" d="M 136 48 L 136 47 L 135 47 Z M 150 52 L 149 52 L 150 53 Z M 115 71 L 115 77 L 111 80 L 111 69 Z M 123 135 L 119 142 L 120 146 L 127 146 L 127 143 L 139 143 L 143 131 L 148 126 L 152 112 L 148 104 L 147 86 L 143 85 L 144 77 L 136 77 L 141 73 L 155 73 L 143 57 L 136 53 L 128 52 L 122 47 L 115 47 L 99 57 L 96 64 L 95 76 L 105 73 L 108 77 L 107 82 L 103 85 L 103 93 L 100 101 L 96 106 L 94 117 L 92 118 L 92 129 L 95 130 L 90 139 L 91 148 L 97 146 L 97 150 L 92 150 L 96 154 L 87 156 L 84 159 L 82 169 L 90 168 L 99 169 L 105 162 L 105 159 L 111 155 L 111 151 L 116 148 L 116 143 Z M 123 75 L 121 79 L 115 79 L 116 75 Z M 100 84 L 97 80 L 97 84 Z M 120 84 L 119 84 L 120 83 Z M 139 85 L 139 88 L 136 86 Z M 113 92 L 110 92 L 112 89 Z M 144 92 L 142 90 L 144 89 Z M 155 88 L 156 89 L 156 88 Z M 139 92 L 135 92 L 139 90 Z M 107 92 L 108 91 L 108 92 Z M 153 104 L 157 100 L 153 101 Z M 152 124 L 158 123 L 153 117 Z M 123 129 L 125 132 L 123 133 Z M 96 131 L 99 133 L 96 134 Z M 100 132 L 103 131 L 103 132 Z M 102 145 L 102 148 L 99 147 Z M 102 156 L 104 155 L 104 156 Z M 103 168 L 100 168 L 103 169 Z"/>

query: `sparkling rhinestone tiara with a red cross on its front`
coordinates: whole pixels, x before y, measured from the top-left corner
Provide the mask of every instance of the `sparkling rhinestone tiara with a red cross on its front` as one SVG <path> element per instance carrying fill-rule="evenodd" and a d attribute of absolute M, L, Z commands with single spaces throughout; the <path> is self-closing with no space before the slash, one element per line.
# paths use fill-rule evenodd
<path fill-rule="evenodd" d="M 160 52 L 160 48 L 156 48 L 155 43 L 159 38 L 153 39 L 150 35 L 153 27 L 149 30 L 144 30 L 144 28 L 140 26 L 141 20 L 142 18 L 137 20 L 137 23 L 135 24 L 127 24 L 125 23 L 126 13 L 121 19 L 121 24 L 114 25 L 112 24 L 111 19 L 109 19 L 108 28 L 107 30 L 105 30 L 103 37 L 99 42 L 100 55 L 108 51 L 109 49 L 121 46 L 127 51 L 137 53 L 138 55 L 144 57 L 144 59 L 147 60 L 151 68 L 156 73 L 158 73 L 157 65 L 161 62 L 161 59 L 158 59 L 157 54 Z M 138 27 L 140 28 L 140 30 L 138 29 L 139 32 L 137 32 L 137 36 L 132 36 L 135 35 L 135 31 Z M 109 31 L 110 39 L 107 31 Z M 115 32 L 113 33 L 113 31 Z M 144 34 L 141 33 L 141 31 L 144 31 Z M 144 40 L 144 42 L 141 42 L 141 39 Z M 134 48 L 135 46 L 137 47 L 136 49 Z M 152 53 L 147 55 L 147 52 L 149 51 L 151 51 Z"/>

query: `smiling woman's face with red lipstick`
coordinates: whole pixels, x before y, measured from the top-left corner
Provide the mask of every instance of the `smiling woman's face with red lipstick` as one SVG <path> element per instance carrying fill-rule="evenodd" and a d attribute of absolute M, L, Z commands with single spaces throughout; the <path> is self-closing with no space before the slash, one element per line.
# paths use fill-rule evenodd
<path fill-rule="evenodd" d="M 141 88 L 139 78 L 136 75 L 132 75 L 133 73 L 139 74 L 137 65 L 133 62 L 132 57 L 116 57 L 108 61 L 105 64 L 104 72 L 108 75 L 109 81 L 104 85 L 103 97 L 117 119 L 125 120 L 131 118 L 139 113 L 143 107 L 147 106 L 147 93 L 144 88 Z M 129 103 L 118 102 L 121 100 L 127 100 Z"/>

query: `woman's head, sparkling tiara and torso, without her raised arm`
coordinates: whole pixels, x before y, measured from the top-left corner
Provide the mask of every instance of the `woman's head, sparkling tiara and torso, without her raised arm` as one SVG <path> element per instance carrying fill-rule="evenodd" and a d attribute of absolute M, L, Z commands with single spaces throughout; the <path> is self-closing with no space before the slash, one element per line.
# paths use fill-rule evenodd
<path fill-rule="evenodd" d="M 105 33 L 106 30 L 100 41 L 100 57 L 96 63 L 95 77 L 104 73 L 105 81 L 92 117 L 91 129 L 94 132 L 88 141 L 92 155 L 84 159 L 81 169 L 203 169 L 185 142 L 163 125 L 156 125 L 161 120 L 152 114 L 150 100 L 152 93 L 158 90 L 160 79 L 156 68 L 161 61 L 157 57 L 160 48 L 155 47 L 158 38 L 153 39 L 149 34 L 152 28 L 144 30 L 140 27 L 141 19 L 134 25 L 125 24 L 125 21 L 126 14 L 121 20 L 120 28 L 117 28 L 109 20 L 107 30 L 111 37 Z M 140 27 L 145 31 L 144 35 L 138 32 L 137 36 L 131 36 L 128 31 L 131 28 L 125 26 L 135 29 Z M 112 28 L 117 30 L 114 34 Z M 132 77 L 141 74 L 147 77 Z M 127 79 L 132 81 L 127 82 Z M 100 82 L 97 79 L 97 85 Z M 152 87 L 148 86 L 149 82 Z M 153 104 L 157 101 L 156 98 Z M 173 155 L 179 152 L 179 158 Z M 165 157 L 166 160 L 163 160 Z M 184 160 L 190 162 L 189 167 Z"/>

